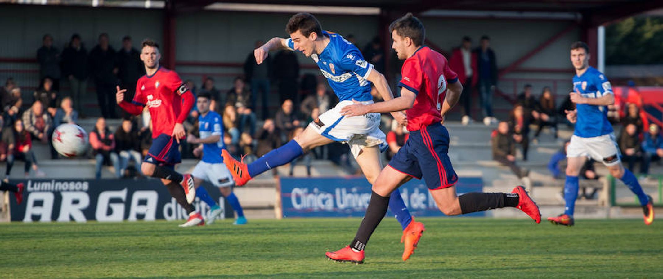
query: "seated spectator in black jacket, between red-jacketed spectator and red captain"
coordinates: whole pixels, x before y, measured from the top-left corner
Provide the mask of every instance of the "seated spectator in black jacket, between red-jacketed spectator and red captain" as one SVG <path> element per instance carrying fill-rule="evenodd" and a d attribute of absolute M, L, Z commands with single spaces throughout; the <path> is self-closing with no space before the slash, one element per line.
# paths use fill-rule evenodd
<path fill-rule="evenodd" d="M 121 127 L 115 131 L 115 152 L 119 155 L 121 176 L 125 176 L 125 172 L 129 167 L 129 160 L 133 160 L 134 168 L 137 172 L 141 173 L 141 140 L 138 132 L 133 129 L 133 122 L 131 119 L 123 119 Z"/>

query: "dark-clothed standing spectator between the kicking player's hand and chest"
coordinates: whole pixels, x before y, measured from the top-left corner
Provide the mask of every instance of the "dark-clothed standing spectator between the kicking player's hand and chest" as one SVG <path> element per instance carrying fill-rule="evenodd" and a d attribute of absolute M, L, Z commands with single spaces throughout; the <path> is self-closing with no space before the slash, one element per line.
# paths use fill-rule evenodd
<path fill-rule="evenodd" d="M 299 78 L 299 62 L 294 52 L 281 50 L 274 56 L 274 78 L 278 82 L 280 101 L 297 100 L 297 79 Z"/>

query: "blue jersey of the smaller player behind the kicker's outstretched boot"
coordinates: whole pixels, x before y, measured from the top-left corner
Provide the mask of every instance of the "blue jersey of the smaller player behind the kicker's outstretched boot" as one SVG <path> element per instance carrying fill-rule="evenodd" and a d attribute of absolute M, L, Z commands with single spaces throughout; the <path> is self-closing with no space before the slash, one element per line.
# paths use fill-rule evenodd
<path fill-rule="evenodd" d="M 205 139 L 213 135 L 219 135 L 221 139 L 219 142 L 204 143 L 203 144 L 203 162 L 210 164 L 218 164 L 223 162 L 221 157 L 221 149 L 225 147 L 223 144 L 223 120 L 218 113 L 210 111 L 204 117 L 198 117 L 198 131 L 200 131 L 200 139 Z"/>

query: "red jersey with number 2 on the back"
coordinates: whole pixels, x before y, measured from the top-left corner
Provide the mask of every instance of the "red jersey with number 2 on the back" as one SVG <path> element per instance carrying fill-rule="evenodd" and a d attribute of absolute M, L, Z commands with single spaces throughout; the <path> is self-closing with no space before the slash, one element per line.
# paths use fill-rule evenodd
<path fill-rule="evenodd" d="M 416 131 L 442 121 L 440 110 L 447 94 L 447 84 L 458 81 L 458 76 L 442 54 L 422 46 L 406 59 L 400 70 L 402 80 L 398 86 L 416 93 L 414 105 L 405 111 L 408 131 Z"/>

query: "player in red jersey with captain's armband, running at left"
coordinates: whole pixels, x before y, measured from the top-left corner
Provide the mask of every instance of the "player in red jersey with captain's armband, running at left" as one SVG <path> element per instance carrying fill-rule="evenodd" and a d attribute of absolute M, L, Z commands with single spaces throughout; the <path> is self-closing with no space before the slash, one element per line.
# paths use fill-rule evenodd
<path fill-rule="evenodd" d="M 194 94 L 186 87 L 180 76 L 159 66 L 159 45 L 152 40 L 143 41 L 141 60 L 146 75 L 136 84 L 136 94 L 129 103 L 124 99 L 127 89 L 117 86 L 117 104 L 132 115 L 143 113 L 147 106 L 152 117 L 152 146 L 141 164 L 146 176 L 161 178 L 186 212 L 189 219 L 180 227 L 203 225 L 203 217 L 191 204 L 196 197 L 194 180 L 190 174 L 175 172 L 175 164 L 182 162 L 179 145 L 186 132 L 182 123 L 194 105 Z"/>

